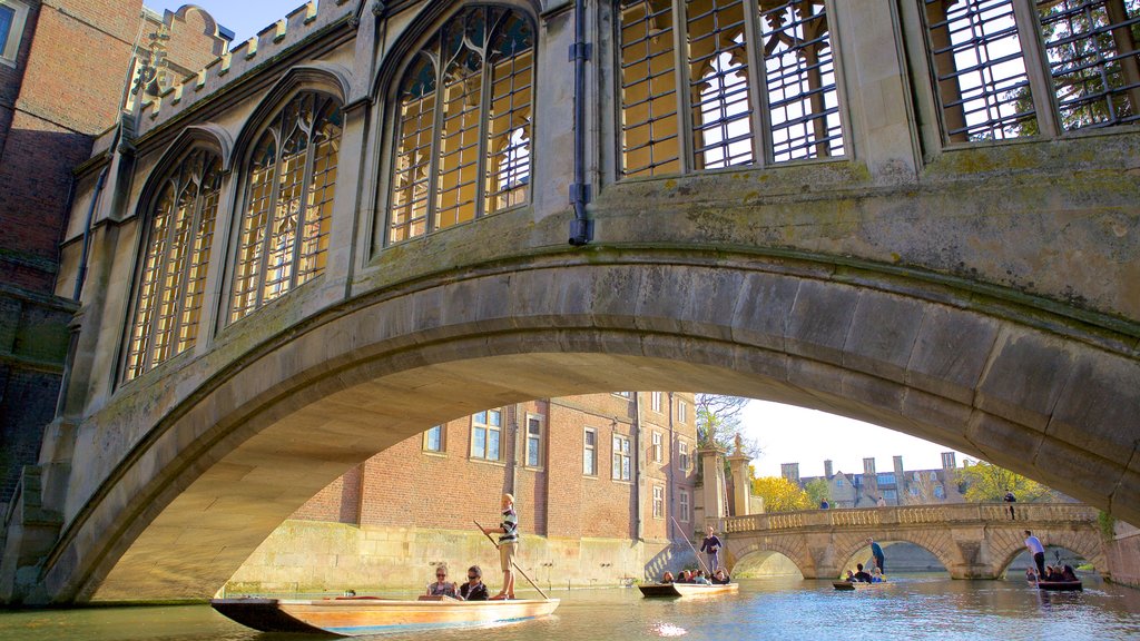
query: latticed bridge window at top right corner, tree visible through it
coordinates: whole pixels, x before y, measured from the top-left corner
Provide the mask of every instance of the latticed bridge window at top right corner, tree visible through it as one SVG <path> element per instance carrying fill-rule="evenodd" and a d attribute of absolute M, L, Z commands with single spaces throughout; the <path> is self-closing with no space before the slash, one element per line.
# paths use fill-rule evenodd
<path fill-rule="evenodd" d="M 951 143 L 1140 119 L 1140 0 L 923 2 Z"/>

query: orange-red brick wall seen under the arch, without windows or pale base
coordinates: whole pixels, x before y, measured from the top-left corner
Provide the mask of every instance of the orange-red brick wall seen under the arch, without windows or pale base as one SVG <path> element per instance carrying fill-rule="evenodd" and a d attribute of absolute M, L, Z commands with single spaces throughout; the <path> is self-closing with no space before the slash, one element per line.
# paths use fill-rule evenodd
<path fill-rule="evenodd" d="M 669 514 L 676 514 L 676 490 L 693 490 L 691 473 L 675 466 L 675 446 L 669 441 L 668 404 L 662 412 L 649 409 L 642 395 L 643 486 L 642 536 L 661 539 L 669 535 Z M 666 396 L 665 398 L 668 398 Z M 690 422 L 674 425 L 674 441 L 695 441 Z M 471 417 L 443 425 L 443 452 L 425 452 L 423 437 L 404 440 L 318 493 L 292 518 L 398 528 L 464 530 L 473 520 L 497 522 L 502 492 L 513 489 L 523 535 L 556 538 L 635 538 L 634 484 L 613 479 L 613 435 L 633 438 L 634 405 L 614 395 L 594 395 L 537 400 L 507 406 L 502 420 L 502 461 L 473 459 Z M 526 462 L 528 414 L 544 421 L 540 465 Z M 583 473 L 584 431 L 597 433 L 597 473 Z M 652 432 L 662 436 L 662 461 L 653 461 Z M 637 456 L 637 452 L 632 452 Z M 670 489 L 670 474 L 673 492 Z M 653 486 L 665 489 L 666 512 L 653 517 Z"/>

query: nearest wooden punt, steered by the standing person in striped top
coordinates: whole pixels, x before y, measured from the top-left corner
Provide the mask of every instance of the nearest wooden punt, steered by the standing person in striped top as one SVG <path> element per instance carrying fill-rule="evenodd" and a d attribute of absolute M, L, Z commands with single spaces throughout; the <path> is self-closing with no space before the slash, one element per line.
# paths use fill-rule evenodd
<path fill-rule="evenodd" d="M 215 610 L 261 632 L 309 632 L 360 636 L 384 632 L 490 625 L 548 615 L 557 599 L 400 601 L 369 597 L 319 600 L 213 599 Z"/>

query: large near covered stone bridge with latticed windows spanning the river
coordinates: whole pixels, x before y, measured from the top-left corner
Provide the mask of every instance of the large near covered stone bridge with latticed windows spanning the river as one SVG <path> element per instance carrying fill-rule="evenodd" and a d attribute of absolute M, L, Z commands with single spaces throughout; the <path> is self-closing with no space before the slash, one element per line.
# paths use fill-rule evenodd
<path fill-rule="evenodd" d="M 300 7 L 79 169 L 0 599 L 209 597 L 392 444 L 616 389 L 861 419 L 1140 522 L 1140 91 L 1070 104 L 1052 18 L 976 5 Z M 855 543 L 821 545 L 788 553 Z"/>

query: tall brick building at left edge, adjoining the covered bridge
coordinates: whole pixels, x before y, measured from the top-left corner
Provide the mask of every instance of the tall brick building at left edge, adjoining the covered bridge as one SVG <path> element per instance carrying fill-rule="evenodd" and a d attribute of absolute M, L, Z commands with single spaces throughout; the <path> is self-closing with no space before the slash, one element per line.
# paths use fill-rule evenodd
<path fill-rule="evenodd" d="M 68 324 L 54 295 L 75 170 L 127 105 L 129 74 L 164 25 L 166 66 L 196 70 L 229 41 L 204 11 L 140 0 L 0 0 L 0 512 L 55 416 Z M 95 55 L 93 52 L 97 52 Z"/>

